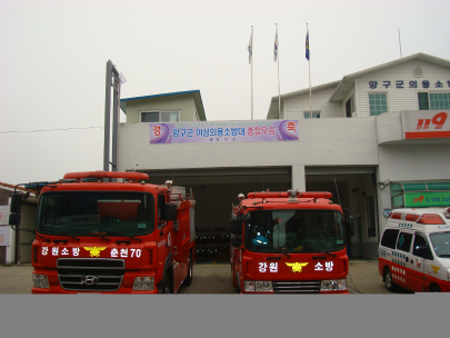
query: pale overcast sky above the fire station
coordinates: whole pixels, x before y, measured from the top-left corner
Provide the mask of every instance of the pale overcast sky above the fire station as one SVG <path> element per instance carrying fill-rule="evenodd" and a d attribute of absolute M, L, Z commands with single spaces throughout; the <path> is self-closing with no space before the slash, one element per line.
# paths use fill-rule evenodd
<path fill-rule="evenodd" d="M 399 59 L 398 28 L 403 57 L 450 60 L 449 12 L 448 0 L 0 0 L 0 181 L 102 169 L 108 60 L 128 80 L 121 98 L 200 90 L 208 120 L 249 120 L 253 26 L 253 113 L 266 119 L 276 23 L 287 93 L 309 86 L 307 22 L 318 86 Z M 68 128 L 90 129 L 54 130 Z"/>

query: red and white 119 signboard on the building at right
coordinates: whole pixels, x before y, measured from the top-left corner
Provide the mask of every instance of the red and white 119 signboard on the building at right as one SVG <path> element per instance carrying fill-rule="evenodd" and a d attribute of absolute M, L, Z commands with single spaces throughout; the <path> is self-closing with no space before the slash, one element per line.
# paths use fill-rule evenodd
<path fill-rule="evenodd" d="M 409 110 L 402 112 L 404 139 L 450 138 L 450 110 Z"/>

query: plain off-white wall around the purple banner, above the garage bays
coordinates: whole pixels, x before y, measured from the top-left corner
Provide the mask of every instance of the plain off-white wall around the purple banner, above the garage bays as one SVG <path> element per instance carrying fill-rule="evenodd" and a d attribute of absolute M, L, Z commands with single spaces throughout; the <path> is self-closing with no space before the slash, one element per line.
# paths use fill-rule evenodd
<path fill-rule="evenodd" d="M 149 123 L 119 126 L 118 170 L 292 167 L 304 188 L 304 166 L 376 166 L 376 120 L 299 121 L 299 141 L 150 145 Z"/>

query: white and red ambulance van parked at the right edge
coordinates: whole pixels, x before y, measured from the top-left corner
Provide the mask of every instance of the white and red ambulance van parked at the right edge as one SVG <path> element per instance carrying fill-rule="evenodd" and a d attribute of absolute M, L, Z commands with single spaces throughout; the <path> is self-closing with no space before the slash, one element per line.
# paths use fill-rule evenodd
<path fill-rule="evenodd" d="M 378 265 L 389 291 L 450 292 L 450 207 L 392 210 Z"/>

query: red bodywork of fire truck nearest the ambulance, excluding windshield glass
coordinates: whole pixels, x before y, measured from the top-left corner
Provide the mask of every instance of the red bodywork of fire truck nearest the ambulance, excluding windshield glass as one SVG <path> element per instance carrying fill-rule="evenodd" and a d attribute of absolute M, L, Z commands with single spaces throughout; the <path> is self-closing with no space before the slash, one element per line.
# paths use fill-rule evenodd
<path fill-rule="evenodd" d="M 272 211 L 273 215 L 276 215 L 276 212 L 288 212 L 292 215 L 299 210 L 317 210 L 317 212 L 331 210 L 340 215 L 342 213 L 340 206 L 333 205 L 327 199 L 331 197 L 330 192 L 297 191 L 297 196 L 301 197 L 292 196 L 288 198 L 288 196 L 289 192 L 250 192 L 248 195 L 249 198 L 241 199 L 240 203 L 233 207 L 232 215 L 238 218 L 243 218 L 248 212 Z M 306 198 L 307 196 L 308 198 Z M 256 222 L 256 220 L 253 221 L 253 216 L 251 219 L 252 221 L 249 221 L 248 227 L 251 227 L 250 223 Z M 347 287 L 344 289 L 327 291 L 321 289 L 321 281 L 323 280 L 340 280 L 340 282 L 342 282 L 342 280 L 347 279 L 349 262 L 343 241 L 342 245 L 339 246 L 339 250 L 332 250 L 328 254 L 320 251 L 307 252 L 301 246 L 294 249 L 298 251 L 289 250 L 288 247 L 286 247 L 282 248 L 282 250 L 272 249 L 270 252 L 260 252 L 252 249 L 251 243 L 249 245 L 250 230 L 246 230 L 246 222 L 239 223 L 238 221 L 238 227 L 241 228 L 242 245 L 238 247 L 231 246 L 230 261 L 233 285 L 238 287 L 240 292 L 248 292 L 246 291 L 244 282 L 262 281 L 266 284 L 270 282 L 273 290 L 261 291 L 261 294 L 349 294 Z M 273 233 L 268 231 L 268 236 L 274 236 L 274 227 L 269 229 L 273 229 Z M 288 232 L 286 232 L 286 236 L 287 235 Z M 233 236 L 238 236 L 238 233 L 233 233 Z M 341 240 L 339 242 L 341 242 Z M 259 291 L 250 292 L 258 294 Z"/>

